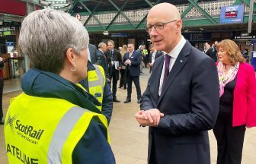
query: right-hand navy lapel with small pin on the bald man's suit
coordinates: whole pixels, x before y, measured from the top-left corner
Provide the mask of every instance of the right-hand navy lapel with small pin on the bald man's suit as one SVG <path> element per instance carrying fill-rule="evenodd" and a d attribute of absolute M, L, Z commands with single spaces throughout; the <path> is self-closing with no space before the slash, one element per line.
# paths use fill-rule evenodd
<path fill-rule="evenodd" d="M 189 53 L 190 53 L 190 47 L 191 47 L 190 43 L 186 42 L 184 47 L 181 49 L 181 52 L 178 55 L 178 58 L 176 58 L 176 61 L 174 62 L 173 67 L 171 68 L 171 72 L 168 75 L 167 83 L 165 84 L 165 86 L 162 86 L 162 93 L 158 100 L 158 103 L 160 103 L 162 97 L 165 95 L 165 92 L 168 90 L 168 87 L 171 86 L 175 77 L 178 75 L 178 73 L 181 71 L 181 69 L 186 64 L 187 55 L 189 55 Z"/>

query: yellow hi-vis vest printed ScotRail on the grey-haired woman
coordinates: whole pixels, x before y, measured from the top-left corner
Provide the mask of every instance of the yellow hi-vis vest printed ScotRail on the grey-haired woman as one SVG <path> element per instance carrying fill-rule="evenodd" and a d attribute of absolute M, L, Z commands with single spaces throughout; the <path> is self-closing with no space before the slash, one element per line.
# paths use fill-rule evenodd
<path fill-rule="evenodd" d="M 72 152 L 91 118 L 104 115 L 82 109 L 64 99 L 21 93 L 12 100 L 5 119 L 5 144 L 11 164 L 71 164 Z M 109 142 L 109 134 L 106 134 Z"/>

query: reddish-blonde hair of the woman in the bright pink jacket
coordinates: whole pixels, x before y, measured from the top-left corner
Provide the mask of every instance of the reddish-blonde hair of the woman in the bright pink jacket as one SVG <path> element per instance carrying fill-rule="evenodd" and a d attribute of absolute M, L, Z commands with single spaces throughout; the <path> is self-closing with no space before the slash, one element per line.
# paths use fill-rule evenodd
<path fill-rule="evenodd" d="M 224 39 L 217 44 L 216 49 L 219 52 L 219 49 L 225 49 L 228 52 L 229 60 L 232 65 L 235 65 L 237 62 L 244 62 L 245 58 L 242 56 L 238 45 L 231 39 Z"/>

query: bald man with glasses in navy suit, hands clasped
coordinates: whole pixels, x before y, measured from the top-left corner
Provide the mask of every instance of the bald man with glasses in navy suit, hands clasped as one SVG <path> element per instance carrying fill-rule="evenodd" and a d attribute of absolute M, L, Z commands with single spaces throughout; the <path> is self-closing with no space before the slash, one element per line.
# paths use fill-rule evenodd
<path fill-rule="evenodd" d="M 142 96 L 136 120 L 149 126 L 148 161 L 154 164 L 210 164 L 207 131 L 219 110 L 219 80 L 212 58 L 181 35 L 181 16 L 174 5 L 152 7 L 146 29 L 158 58 Z"/>

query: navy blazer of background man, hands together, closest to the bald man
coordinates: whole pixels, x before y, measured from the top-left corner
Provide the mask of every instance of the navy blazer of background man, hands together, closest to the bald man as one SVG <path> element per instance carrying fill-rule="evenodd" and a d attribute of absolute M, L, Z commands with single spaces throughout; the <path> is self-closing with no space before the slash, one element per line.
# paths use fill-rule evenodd
<path fill-rule="evenodd" d="M 126 52 L 123 55 L 123 65 L 124 62 L 129 58 L 130 52 Z M 140 75 L 140 62 L 142 60 L 142 54 L 139 51 L 134 50 L 133 54 L 129 58 L 131 65 L 126 65 L 127 73 L 129 72 L 130 76 L 139 76 Z"/>

